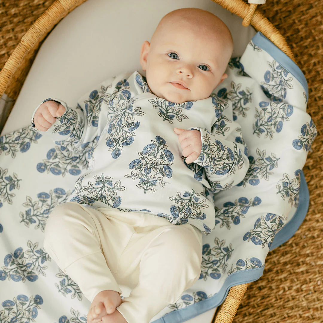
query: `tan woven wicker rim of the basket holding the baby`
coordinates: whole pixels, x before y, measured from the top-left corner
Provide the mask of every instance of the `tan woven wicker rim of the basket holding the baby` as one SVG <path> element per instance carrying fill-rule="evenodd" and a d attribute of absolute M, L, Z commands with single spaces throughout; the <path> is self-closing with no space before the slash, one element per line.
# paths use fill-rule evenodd
<path fill-rule="evenodd" d="M 75 7 L 77 7 L 85 1 L 86 0 L 35 1 L 43 5 L 40 6 L 39 10 L 43 10 L 43 7 L 48 7 L 48 3 L 52 4 L 47 8 L 47 10 L 44 13 L 41 14 L 41 16 L 39 16 L 39 18 L 28 29 L 26 34 L 21 38 L 19 44 L 16 46 L 10 57 L 7 59 L 4 67 L 0 71 L 0 97 L 5 93 L 8 97 L 13 99 L 13 103 L 15 102 L 23 85 L 23 82 L 25 81 L 26 75 L 32 65 L 32 62 L 43 40 L 63 17 L 65 17 Z M 248 5 L 243 0 L 213 1 L 222 5 L 225 9 L 230 10 L 232 13 L 244 18 L 244 26 L 247 26 L 250 23 L 252 26 L 255 27 L 256 30 L 261 31 L 268 39 L 270 39 L 288 57 L 294 60 L 294 56 L 291 52 L 291 49 L 288 47 L 285 38 L 260 12 L 255 11 L 256 5 Z M 6 3 L 8 2 L 14 2 L 14 0 L 6 1 Z M 26 0 L 19 0 L 18 2 L 21 3 L 21 5 L 25 5 L 24 3 L 26 3 Z M 271 0 L 268 0 L 268 2 L 271 2 Z M 276 2 L 278 2 L 278 0 L 276 0 Z M 0 7 L 0 10 L 6 6 L 6 3 L 0 2 L 0 4 L 2 5 L 2 7 Z M 17 9 L 19 10 L 19 5 Z M 32 14 L 34 14 L 34 12 Z M 2 36 L 1 32 L 0 36 Z M 0 52 L 0 54 L 2 53 Z M 5 115 L 2 116 L 2 122 L 4 122 L 7 119 L 10 111 L 5 112 Z M 316 122 L 316 124 L 318 124 L 318 122 Z M 214 323 L 229 323 L 233 321 L 236 311 L 241 302 L 241 299 L 245 294 L 247 286 L 248 284 L 238 285 L 230 289 L 229 294 L 226 297 L 224 303 L 221 305 L 221 307 L 218 308 L 215 314 L 213 320 Z M 322 307 L 320 307 L 319 309 L 322 309 Z M 278 321 L 282 322 L 281 320 Z M 257 320 L 256 322 L 264 321 Z M 298 320 L 288 320 L 286 322 L 292 323 L 298 322 Z M 305 321 L 302 320 L 302 322 Z M 312 320 L 308 322 L 316 323 L 322 321 Z"/>

